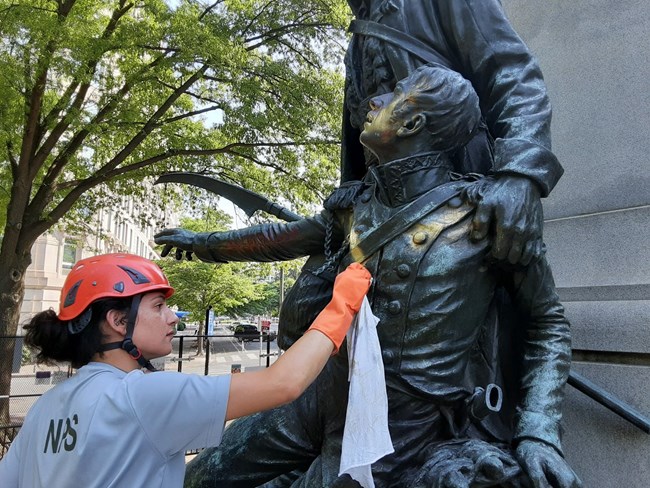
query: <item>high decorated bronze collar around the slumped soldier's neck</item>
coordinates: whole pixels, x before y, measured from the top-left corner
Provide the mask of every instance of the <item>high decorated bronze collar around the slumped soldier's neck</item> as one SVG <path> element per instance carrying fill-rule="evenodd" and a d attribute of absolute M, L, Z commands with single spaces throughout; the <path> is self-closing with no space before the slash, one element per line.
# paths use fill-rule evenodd
<path fill-rule="evenodd" d="M 404 205 L 422 193 L 451 181 L 452 163 L 445 153 L 431 152 L 369 169 L 379 197 L 391 207 Z"/>

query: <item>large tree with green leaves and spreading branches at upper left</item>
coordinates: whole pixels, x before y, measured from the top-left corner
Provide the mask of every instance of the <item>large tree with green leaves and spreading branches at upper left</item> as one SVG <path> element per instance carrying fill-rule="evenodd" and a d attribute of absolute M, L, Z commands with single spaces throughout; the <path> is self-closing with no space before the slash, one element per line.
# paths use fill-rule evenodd
<path fill-rule="evenodd" d="M 346 3 L 173 3 L 0 0 L 0 336 L 38 236 L 111 195 L 152 198 L 142 178 L 212 171 L 298 211 L 332 184 Z"/>

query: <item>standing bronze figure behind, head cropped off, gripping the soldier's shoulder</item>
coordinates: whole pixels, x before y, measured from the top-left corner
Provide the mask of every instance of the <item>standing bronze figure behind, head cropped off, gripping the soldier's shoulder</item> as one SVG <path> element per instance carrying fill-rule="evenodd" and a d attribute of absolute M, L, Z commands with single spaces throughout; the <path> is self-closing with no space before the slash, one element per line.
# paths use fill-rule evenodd
<path fill-rule="evenodd" d="M 539 256 L 539 199 L 563 169 L 551 152 L 551 107 L 541 70 L 500 0 L 348 3 L 356 20 L 346 55 L 342 181 L 361 179 L 375 161 L 359 144 L 368 100 L 391 92 L 418 66 L 442 64 L 472 83 L 483 116 L 470 143 L 452 158 L 454 168 L 494 176 L 477 203 L 472 238 L 493 229 L 495 258 L 526 264 Z"/>

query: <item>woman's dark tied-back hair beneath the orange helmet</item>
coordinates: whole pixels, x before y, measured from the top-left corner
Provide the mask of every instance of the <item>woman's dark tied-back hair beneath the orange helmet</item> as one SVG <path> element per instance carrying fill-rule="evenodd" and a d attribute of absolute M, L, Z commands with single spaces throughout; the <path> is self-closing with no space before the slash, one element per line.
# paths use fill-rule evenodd
<path fill-rule="evenodd" d="M 59 320 L 54 310 L 45 310 L 32 317 L 24 329 L 25 344 L 38 351 L 36 362 L 52 364 L 69 362 L 73 368 L 80 368 L 90 362 L 96 353 L 101 355 L 105 336 L 99 325 L 110 310 L 127 314 L 130 298 L 101 298 L 90 305 L 90 322 L 78 334 L 68 330 L 68 322 Z"/>

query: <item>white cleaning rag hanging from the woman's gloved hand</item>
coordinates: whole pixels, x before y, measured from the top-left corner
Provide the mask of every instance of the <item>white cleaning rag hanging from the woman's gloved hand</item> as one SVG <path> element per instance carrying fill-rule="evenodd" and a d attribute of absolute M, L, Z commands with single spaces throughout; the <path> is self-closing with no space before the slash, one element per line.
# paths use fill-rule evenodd
<path fill-rule="evenodd" d="M 347 334 L 350 395 L 339 476 L 347 473 L 363 488 L 375 487 L 372 463 L 394 452 L 388 432 L 388 397 L 378 323 L 364 298 Z"/>

